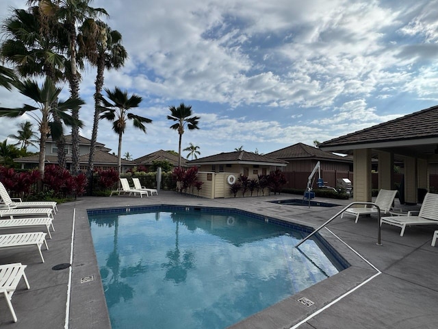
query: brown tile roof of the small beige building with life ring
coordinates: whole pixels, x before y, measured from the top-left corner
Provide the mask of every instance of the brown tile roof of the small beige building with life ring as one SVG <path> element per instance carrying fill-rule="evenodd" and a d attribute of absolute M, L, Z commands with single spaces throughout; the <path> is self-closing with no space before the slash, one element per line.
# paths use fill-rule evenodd
<path fill-rule="evenodd" d="M 218 163 L 218 162 L 264 162 L 272 164 L 286 164 L 286 161 L 271 158 L 269 156 L 262 156 L 247 151 L 233 151 L 227 153 L 215 154 L 214 156 L 206 156 L 205 158 L 198 158 L 191 160 L 188 164 L 204 164 L 204 163 Z"/>

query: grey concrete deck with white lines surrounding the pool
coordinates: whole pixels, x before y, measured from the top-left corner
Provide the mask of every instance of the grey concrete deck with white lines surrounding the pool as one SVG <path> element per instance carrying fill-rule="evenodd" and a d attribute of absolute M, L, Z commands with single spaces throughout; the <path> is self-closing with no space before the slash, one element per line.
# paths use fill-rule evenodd
<path fill-rule="evenodd" d="M 45 263 L 41 263 L 34 247 L 0 251 L 0 264 L 27 265 L 25 273 L 30 284 L 29 290 L 23 282 L 18 284 L 12 297 L 18 322 L 12 321 L 6 302 L 0 300 L 0 326 L 14 329 L 111 327 L 87 209 L 161 204 L 237 208 L 316 228 L 351 202 L 318 198 L 321 202 L 340 205 L 333 208 L 268 202 L 294 198 L 300 196 L 211 200 L 162 191 L 153 197 L 82 197 L 77 202 L 60 204 L 53 221 L 53 239 L 47 240 L 49 250 L 42 247 Z M 396 206 L 397 202 L 398 199 Z M 381 230 L 382 245 L 376 245 L 376 217 L 364 217 L 359 223 L 348 215 L 343 219 L 337 217 L 327 228 L 321 231 L 322 236 L 351 267 L 230 328 L 437 328 L 438 246 L 431 247 L 430 242 L 438 227 L 411 227 L 400 236 L 400 228 L 385 225 Z M 3 230 L 2 234 L 28 231 Z M 70 263 L 73 236 L 72 267 L 53 270 L 54 265 Z M 68 289 L 69 282 L 71 289 Z M 300 297 L 314 304 L 307 307 L 298 302 Z"/>

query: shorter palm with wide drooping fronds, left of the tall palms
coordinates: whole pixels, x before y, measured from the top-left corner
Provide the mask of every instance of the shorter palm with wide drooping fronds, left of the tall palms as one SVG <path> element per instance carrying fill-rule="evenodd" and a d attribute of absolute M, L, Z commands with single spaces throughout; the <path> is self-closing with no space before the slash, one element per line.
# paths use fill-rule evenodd
<path fill-rule="evenodd" d="M 40 171 L 41 178 L 44 178 L 44 160 L 46 156 L 45 145 L 47 136 L 59 136 L 62 134 L 62 125 L 53 122 L 53 115 L 57 115 L 62 119 L 66 125 L 73 123 L 81 126 L 81 121 L 75 119 L 66 111 L 72 110 L 81 106 L 84 102 L 81 99 L 72 99 L 71 97 L 66 101 L 55 102 L 60 95 L 62 88 L 57 88 L 53 81 L 46 77 L 42 87 L 32 80 L 25 80 L 24 82 L 16 82 L 14 84 L 18 91 L 29 97 L 34 101 L 38 107 L 24 104 L 23 108 L 0 108 L 0 117 L 16 118 L 23 114 L 28 114 L 38 122 L 38 130 L 40 131 L 40 154 L 38 158 L 38 171 Z M 34 114 L 32 111 L 40 111 L 40 115 Z"/>

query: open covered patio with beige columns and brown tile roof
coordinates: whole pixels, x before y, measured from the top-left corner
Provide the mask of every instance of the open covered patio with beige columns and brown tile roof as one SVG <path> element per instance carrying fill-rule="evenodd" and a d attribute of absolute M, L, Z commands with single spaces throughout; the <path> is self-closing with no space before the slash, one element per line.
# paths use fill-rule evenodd
<path fill-rule="evenodd" d="M 398 162 L 404 174 L 400 184 L 404 204 L 417 204 L 422 191 L 430 191 L 429 175 L 438 163 L 438 106 L 333 138 L 320 149 L 353 156 L 355 201 L 371 201 L 372 159 L 376 159 L 378 188 L 394 190 Z"/>

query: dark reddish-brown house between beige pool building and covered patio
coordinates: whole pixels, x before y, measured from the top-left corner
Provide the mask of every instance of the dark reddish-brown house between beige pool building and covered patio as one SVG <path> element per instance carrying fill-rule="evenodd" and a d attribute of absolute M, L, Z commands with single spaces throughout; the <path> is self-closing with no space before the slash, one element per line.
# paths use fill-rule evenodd
<path fill-rule="evenodd" d="M 287 187 L 305 188 L 307 178 L 318 161 L 320 162 L 322 179 L 327 186 L 337 186 L 338 180 L 341 178 L 352 180 L 353 160 L 351 156 L 337 156 L 303 143 L 270 152 L 266 156 L 288 162 L 283 169 L 287 178 Z"/>

